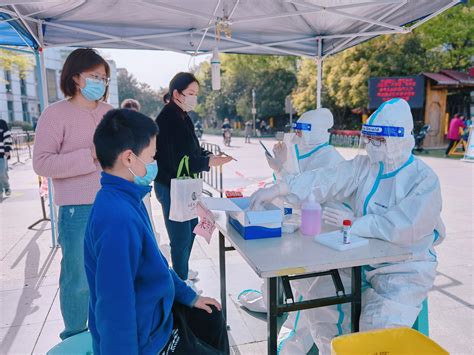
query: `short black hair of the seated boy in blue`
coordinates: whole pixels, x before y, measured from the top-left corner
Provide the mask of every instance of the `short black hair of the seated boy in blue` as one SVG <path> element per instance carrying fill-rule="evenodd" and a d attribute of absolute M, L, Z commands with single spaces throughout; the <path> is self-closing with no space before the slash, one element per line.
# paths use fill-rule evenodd
<path fill-rule="evenodd" d="M 94 133 L 100 166 L 102 169 L 113 168 L 119 154 L 127 149 L 140 155 L 158 132 L 155 121 L 140 112 L 129 109 L 110 110 Z"/>

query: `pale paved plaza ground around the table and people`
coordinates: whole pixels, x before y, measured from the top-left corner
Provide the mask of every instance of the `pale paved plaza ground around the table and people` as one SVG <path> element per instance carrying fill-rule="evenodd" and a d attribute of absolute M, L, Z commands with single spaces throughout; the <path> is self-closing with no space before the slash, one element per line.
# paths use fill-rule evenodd
<path fill-rule="evenodd" d="M 220 144 L 218 137 L 205 137 Z M 254 141 L 236 138 L 226 151 L 237 158 L 227 166 L 226 188 L 255 188 L 268 179 L 262 149 Z M 268 147 L 272 142 L 268 141 Z M 346 157 L 354 150 L 341 149 Z M 432 338 L 452 354 L 473 354 L 474 284 L 473 244 L 474 165 L 456 160 L 423 157 L 439 175 L 443 192 L 443 218 L 448 238 L 439 246 L 438 278 L 430 293 Z M 10 172 L 13 195 L 0 204 L 0 354 L 44 354 L 59 342 L 62 329 L 59 312 L 58 276 L 60 249 L 51 248 L 47 223 L 36 230 L 27 226 L 41 216 L 37 180 L 31 161 Z M 167 236 L 161 210 L 153 199 L 154 220 L 166 250 Z M 263 317 L 241 309 L 237 295 L 259 287 L 260 280 L 237 253 L 227 259 L 228 307 L 231 342 L 235 354 L 264 354 L 266 324 Z M 219 297 L 217 238 L 208 245 L 195 244 L 191 267 L 200 272 L 197 286 L 204 294 Z"/>

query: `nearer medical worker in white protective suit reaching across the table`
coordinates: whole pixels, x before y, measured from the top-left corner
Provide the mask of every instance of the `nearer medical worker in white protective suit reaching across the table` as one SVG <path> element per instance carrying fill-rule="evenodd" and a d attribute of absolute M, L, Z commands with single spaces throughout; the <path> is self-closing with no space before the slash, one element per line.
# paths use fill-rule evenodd
<path fill-rule="evenodd" d="M 434 246 L 445 236 L 441 191 L 436 174 L 411 154 L 412 130 L 408 103 L 403 99 L 387 101 L 362 127 L 361 142 L 367 156 L 359 155 L 332 169 L 286 176 L 283 182 L 252 195 L 252 207 L 286 194 L 304 200 L 311 192 L 308 186 L 320 202 L 352 197 L 355 220 L 351 233 L 382 239 L 412 253 L 405 262 L 363 268 L 361 331 L 411 327 L 435 279 L 438 263 Z M 350 291 L 345 271 L 340 273 Z M 325 296 L 331 283 L 323 280 L 319 278 L 312 288 Z M 308 311 L 320 353 L 329 354 L 331 339 L 349 331 L 349 309 L 343 305 Z"/>

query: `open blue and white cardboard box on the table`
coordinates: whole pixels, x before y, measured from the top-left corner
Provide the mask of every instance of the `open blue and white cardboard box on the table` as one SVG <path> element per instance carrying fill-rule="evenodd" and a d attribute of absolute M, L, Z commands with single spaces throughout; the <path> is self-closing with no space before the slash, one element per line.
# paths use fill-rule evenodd
<path fill-rule="evenodd" d="M 214 211 L 225 211 L 229 223 L 244 239 L 281 237 L 283 213 L 272 203 L 263 210 L 249 210 L 250 198 L 210 198 L 203 197 L 202 202 Z"/>

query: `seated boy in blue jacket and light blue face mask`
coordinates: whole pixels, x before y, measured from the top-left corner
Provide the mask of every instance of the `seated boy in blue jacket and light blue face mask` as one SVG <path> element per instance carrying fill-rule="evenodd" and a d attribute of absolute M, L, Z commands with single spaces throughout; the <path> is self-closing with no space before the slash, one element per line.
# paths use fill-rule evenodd
<path fill-rule="evenodd" d="M 220 304 L 170 269 L 143 197 L 158 166 L 158 127 L 132 110 L 111 110 L 94 134 L 102 188 L 86 229 L 94 354 L 228 354 Z"/>

